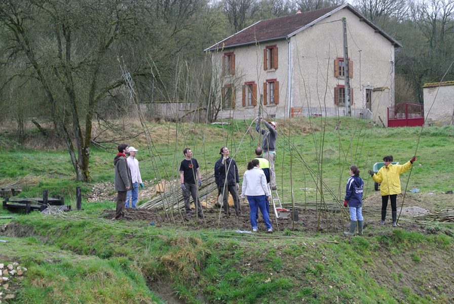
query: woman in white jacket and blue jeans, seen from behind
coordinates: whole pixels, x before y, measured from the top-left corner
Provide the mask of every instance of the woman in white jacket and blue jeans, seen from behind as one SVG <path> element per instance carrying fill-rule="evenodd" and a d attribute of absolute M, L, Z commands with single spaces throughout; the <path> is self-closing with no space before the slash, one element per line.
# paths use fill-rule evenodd
<path fill-rule="evenodd" d="M 267 212 L 266 204 L 267 200 L 271 199 L 270 192 L 268 191 L 267 178 L 260 169 L 259 162 L 257 159 L 253 159 L 247 164 L 247 171 L 244 172 L 243 186 L 241 189 L 241 197 L 247 196 L 249 207 L 251 209 L 251 225 L 252 231 L 258 231 L 256 214 L 257 209 L 263 216 L 263 221 L 267 226 L 267 231 L 273 233 L 273 227 L 271 225 L 270 215 Z"/>

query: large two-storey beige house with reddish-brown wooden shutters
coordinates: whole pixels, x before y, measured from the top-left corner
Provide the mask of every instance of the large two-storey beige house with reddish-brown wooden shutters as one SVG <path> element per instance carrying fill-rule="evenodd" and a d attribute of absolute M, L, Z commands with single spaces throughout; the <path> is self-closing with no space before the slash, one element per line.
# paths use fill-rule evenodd
<path fill-rule="evenodd" d="M 345 116 L 347 99 L 353 116 L 386 120 L 400 46 L 349 4 L 258 21 L 205 50 L 219 92 L 218 117 Z"/>

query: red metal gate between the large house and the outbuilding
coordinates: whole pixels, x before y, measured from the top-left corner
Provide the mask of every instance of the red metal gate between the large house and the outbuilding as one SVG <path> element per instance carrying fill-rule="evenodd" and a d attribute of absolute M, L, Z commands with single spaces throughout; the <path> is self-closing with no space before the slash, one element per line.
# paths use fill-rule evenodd
<path fill-rule="evenodd" d="M 388 108 L 388 127 L 417 127 L 424 125 L 424 105 L 398 103 Z"/>

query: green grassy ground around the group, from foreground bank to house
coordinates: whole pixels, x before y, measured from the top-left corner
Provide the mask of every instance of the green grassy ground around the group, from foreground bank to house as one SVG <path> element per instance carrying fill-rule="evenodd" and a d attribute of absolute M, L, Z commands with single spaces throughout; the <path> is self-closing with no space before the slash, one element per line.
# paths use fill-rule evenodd
<path fill-rule="evenodd" d="M 253 156 L 257 133 L 251 121 L 230 126 L 150 124 L 153 142 L 129 142 L 139 149 L 142 177 L 156 182 L 177 176 L 181 150 L 190 146 L 202 172 L 211 172 L 219 148 L 227 145 L 243 169 Z M 454 189 L 454 127 L 385 129 L 354 119 L 279 122 L 276 164 L 281 197 L 290 199 L 290 171 L 296 201 L 320 200 L 319 177 L 334 197 L 344 195 L 348 166 L 365 173 L 392 154 L 418 160 L 402 175 L 402 189 L 420 188 L 429 210 L 451 208 Z M 186 136 L 178 135 L 186 134 Z M 31 142 L 32 140 L 30 140 Z M 36 138 L 33 138 L 36 141 Z M 8 145 L 6 145 L 8 143 Z M 43 189 L 74 204 L 74 181 L 64 149 L 20 147 L 14 134 L 0 135 L 0 184 L 20 182 L 21 196 Z M 148 150 L 149 146 L 149 150 Z M 113 150 L 93 148 L 93 183 L 112 181 Z M 154 158 L 150 158 L 152 155 Z M 367 174 L 365 197 L 375 195 Z M 306 191 L 301 190 L 306 188 Z M 113 193 L 113 189 L 112 189 Z M 431 193 L 431 194 L 429 194 Z M 432 195 L 433 194 L 433 195 Z M 440 196 L 438 195 L 440 194 Z M 442 231 L 405 226 L 392 229 L 366 219 L 364 237 L 283 230 L 270 235 L 192 226 L 153 226 L 146 221 L 111 222 L 100 217 L 110 201 L 83 202 L 84 210 L 62 216 L 15 215 L 4 227 L 0 262 L 28 268 L 14 281 L 12 303 L 449 303 L 454 301 L 454 243 Z M 9 215 L 2 210 L 1 215 Z M 369 221 L 369 222 L 367 222 Z M 428 231 L 432 233 L 428 233 Z M 11 287 L 12 288 L 12 287 Z"/>

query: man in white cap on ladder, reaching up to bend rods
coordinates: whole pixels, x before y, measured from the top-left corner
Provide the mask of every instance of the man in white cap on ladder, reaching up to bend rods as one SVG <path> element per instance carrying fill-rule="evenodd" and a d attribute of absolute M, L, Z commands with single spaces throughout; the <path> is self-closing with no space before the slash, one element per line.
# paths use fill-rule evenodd
<path fill-rule="evenodd" d="M 259 123 L 263 118 L 259 117 L 257 124 L 255 125 L 255 130 L 263 135 L 263 141 L 261 143 L 261 148 L 263 150 L 263 158 L 270 162 L 271 169 L 271 179 L 270 186 L 274 191 L 276 190 L 276 174 L 274 171 L 274 162 L 276 161 L 276 137 L 278 137 L 278 132 L 276 131 L 277 123 L 263 121 L 263 124 L 267 129 L 260 129 Z"/>

